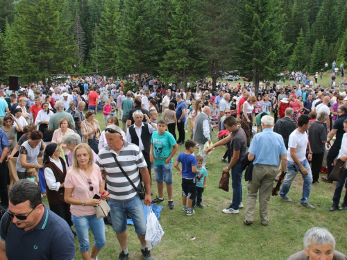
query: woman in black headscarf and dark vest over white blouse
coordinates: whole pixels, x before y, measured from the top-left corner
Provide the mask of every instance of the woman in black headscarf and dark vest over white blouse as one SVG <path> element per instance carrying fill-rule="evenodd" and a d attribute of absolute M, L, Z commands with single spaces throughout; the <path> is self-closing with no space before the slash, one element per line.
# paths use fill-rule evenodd
<path fill-rule="evenodd" d="M 65 202 L 65 177 L 67 164 L 60 157 L 58 144 L 51 143 L 44 150 L 44 180 L 46 181 L 49 209 L 63 218 L 72 227 L 70 205 Z M 72 231 L 76 236 L 76 232 Z"/>

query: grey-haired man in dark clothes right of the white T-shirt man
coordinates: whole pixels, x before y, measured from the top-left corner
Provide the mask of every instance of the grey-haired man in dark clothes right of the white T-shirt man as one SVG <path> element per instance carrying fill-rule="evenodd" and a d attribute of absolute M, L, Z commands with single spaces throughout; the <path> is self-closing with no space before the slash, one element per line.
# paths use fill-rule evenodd
<path fill-rule="evenodd" d="M 319 173 L 323 163 L 325 153 L 325 143 L 327 140 L 327 132 L 323 123 L 328 119 L 329 114 L 321 111 L 316 116 L 316 121 L 311 123 L 310 130 L 308 130 L 308 139 L 310 141 L 312 150 L 312 184 L 319 183 Z"/>

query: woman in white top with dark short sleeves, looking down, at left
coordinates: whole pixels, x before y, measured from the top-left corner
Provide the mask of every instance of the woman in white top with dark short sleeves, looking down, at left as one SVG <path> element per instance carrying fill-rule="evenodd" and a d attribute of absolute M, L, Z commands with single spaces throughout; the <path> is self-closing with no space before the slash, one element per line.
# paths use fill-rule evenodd
<path fill-rule="evenodd" d="M 16 170 L 19 179 L 26 178 L 26 168 L 41 168 L 37 162 L 37 155 L 43 152 L 44 143 L 42 143 L 42 132 L 33 130 L 30 134 L 31 139 L 25 141 L 19 149 Z"/>

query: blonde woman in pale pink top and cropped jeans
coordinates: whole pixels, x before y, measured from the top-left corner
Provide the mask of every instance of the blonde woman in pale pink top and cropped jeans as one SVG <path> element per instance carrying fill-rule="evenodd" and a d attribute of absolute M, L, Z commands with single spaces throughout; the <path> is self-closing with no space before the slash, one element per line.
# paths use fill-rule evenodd
<path fill-rule="evenodd" d="M 96 217 L 94 206 L 99 205 L 95 195 L 103 193 L 105 179 L 101 177 L 100 168 L 94 164 L 92 149 L 87 144 L 78 144 L 72 157 L 72 168 L 65 177 L 65 202 L 71 204 L 71 219 L 76 229 L 80 252 L 84 260 L 96 259 L 105 245 L 105 224 L 103 218 Z M 110 193 L 101 196 L 110 198 Z M 94 235 L 92 253 L 89 252 L 90 229 Z"/>

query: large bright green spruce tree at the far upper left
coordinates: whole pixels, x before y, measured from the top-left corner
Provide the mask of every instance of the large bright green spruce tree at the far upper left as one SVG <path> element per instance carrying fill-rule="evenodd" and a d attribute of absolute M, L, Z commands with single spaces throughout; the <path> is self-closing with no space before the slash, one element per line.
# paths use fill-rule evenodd
<path fill-rule="evenodd" d="M 61 0 L 22 0 L 16 5 L 11 33 L 8 71 L 22 76 L 22 82 L 46 81 L 53 74 L 71 71 L 76 45 L 61 19 Z"/>

